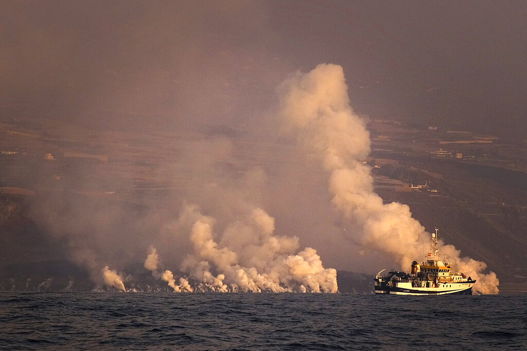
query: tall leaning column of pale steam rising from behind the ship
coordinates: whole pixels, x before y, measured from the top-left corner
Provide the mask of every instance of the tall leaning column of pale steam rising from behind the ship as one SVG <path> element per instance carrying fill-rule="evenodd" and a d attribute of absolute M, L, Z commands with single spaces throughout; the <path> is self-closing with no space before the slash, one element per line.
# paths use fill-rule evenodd
<path fill-rule="evenodd" d="M 332 203 L 346 222 L 346 234 L 356 244 L 391 257 L 401 269 L 421 257 L 430 243 L 424 227 L 412 218 L 407 205 L 383 204 L 373 191 L 370 168 L 362 164 L 370 151 L 364 119 L 349 105 L 342 67 L 320 64 L 296 73 L 280 87 L 280 116 L 297 143 L 329 173 Z M 441 243 L 442 245 L 442 243 Z M 475 292 L 497 294 L 496 275 L 483 274 L 483 262 L 461 257 L 452 245 L 441 247 L 454 269 L 477 279 Z"/>

